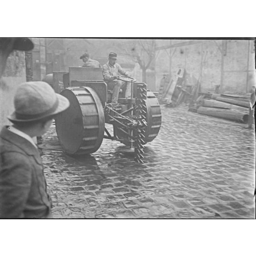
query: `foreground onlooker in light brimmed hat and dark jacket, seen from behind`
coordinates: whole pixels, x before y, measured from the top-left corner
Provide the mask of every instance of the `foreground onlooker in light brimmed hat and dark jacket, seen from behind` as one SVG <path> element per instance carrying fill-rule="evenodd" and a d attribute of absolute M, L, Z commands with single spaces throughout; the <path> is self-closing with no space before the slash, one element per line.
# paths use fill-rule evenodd
<path fill-rule="evenodd" d="M 18 86 L 14 106 L 8 117 L 13 126 L 0 132 L 0 218 L 49 218 L 50 196 L 32 138 L 44 134 L 69 101 L 48 83 L 26 82 Z"/>

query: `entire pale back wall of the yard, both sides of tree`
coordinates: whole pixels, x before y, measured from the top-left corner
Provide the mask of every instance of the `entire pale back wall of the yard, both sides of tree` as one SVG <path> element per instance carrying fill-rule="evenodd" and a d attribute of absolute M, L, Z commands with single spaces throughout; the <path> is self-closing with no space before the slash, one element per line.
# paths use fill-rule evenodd
<path fill-rule="evenodd" d="M 129 53 L 136 47 L 137 39 L 33 39 L 35 44 L 34 78 L 41 79 L 52 71 L 68 72 L 68 67 L 82 66 L 80 56 L 88 51 L 92 59 L 104 65 L 108 53 L 117 52 L 118 63 L 133 72 L 137 81 L 141 82 L 141 72 L 135 68 L 135 62 Z M 191 41 L 189 39 L 172 40 L 172 44 Z M 151 90 L 158 90 L 163 74 L 175 75 L 178 68 L 184 68 L 189 81 L 199 81 L 201 91 L 213 92 L 216 85 L 221 84 L 221 92 L 248 92 L 255 83 L 255 50 L 253 41 L 248 40 L 193 40 L 197 44 L 160 50 L 156 53 L 156 61 L 152 61 L 147 70 L 147 83 Z M 47 45 L 46 48 L 44 48 Z M 224 42 L 224 43 L 223 43 Z M 156 47 L 170 45 L 169 39 L 157 39 Z M 222 55 L 221 49 L 225 48 Z M 44 48 L 44 49 L 43 49 Z M 46 60 L 44 56 L 46 55 Z M 171 56 L 171 61 L 170 61 Z M 36 61 L 39 61 L 39 64 Z M 171 62 L 171 65 L 170 65 Z M 42 66 L 43 65 L 43 66 Z M 37 68 L 36 68 L 37 67 Z M 193 84 L 191 84 L 193 85 Z"/>

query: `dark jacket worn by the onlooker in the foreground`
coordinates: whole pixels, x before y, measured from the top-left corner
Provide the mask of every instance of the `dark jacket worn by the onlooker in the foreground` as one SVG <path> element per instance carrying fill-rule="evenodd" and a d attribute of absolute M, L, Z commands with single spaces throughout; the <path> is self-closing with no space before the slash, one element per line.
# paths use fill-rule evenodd
<path fill-rule="evenodd" d="M 0 218 L 49 218 L 39 150 L 7 127 L 0 132 Z"/>

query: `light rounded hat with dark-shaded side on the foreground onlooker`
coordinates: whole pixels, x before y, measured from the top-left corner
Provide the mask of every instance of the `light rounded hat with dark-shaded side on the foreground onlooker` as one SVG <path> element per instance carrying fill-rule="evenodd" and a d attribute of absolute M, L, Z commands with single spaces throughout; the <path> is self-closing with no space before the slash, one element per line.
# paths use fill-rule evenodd
<path fill-rule="evenodd" d="M 15 111 L 8 119 L 16 122 L 39 121 L 61 113 L 69 105 L 67 98 L 56 94 L 48 83 L 26 82 L 17 88 L 14 97 Z"/>

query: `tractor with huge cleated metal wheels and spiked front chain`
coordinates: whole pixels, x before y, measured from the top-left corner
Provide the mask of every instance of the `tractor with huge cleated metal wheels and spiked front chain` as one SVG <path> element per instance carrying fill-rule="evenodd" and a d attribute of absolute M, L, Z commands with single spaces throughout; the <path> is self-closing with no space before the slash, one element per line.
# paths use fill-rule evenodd
<path fill-rule="evenodd" d="M 134 148 L 135 161 L 143 163 L 144 145 L 156 138 L 161 127 L 160 104 L 145 83 L 124 76 L 118 79 L 131 83 L 131 98 L 123 98 L 120 91 L 118 102 L 111 103 L 112 91 L 102 79 L 100 68 L 53 72 L 53 88 L 70 102 L 55 119 L 61 146 L 68 154 L 90 154 L 103 139 L 117 140 Z M 105 123 L 113 125 L 112 135 Z"/>

